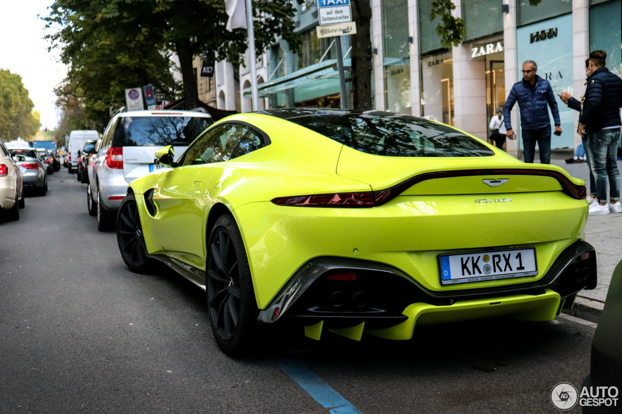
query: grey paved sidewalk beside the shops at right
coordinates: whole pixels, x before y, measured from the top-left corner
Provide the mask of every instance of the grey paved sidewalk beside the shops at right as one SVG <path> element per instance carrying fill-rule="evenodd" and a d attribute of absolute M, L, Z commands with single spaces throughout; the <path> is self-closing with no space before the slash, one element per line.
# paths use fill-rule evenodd
<path fill-rule="evenodd" d="M 551 163 L 564 168 L 573 177 L 585 180 L 589 187 L 590 175 L 585 162 L 567 164 L 563 159 L 552 157 Z M 618 161 L 618 168 L 622 171 L 622 161 Z M 589 193 L 590 188 L 587 191 Z M 595 322 L 605 305 L 613 270 L 622 259 L 622 214 L 588 216 L 585 225 L 585 241 L 596 249 L 598 285 L 594 290 L 579 292 L 572 314 Z"/>

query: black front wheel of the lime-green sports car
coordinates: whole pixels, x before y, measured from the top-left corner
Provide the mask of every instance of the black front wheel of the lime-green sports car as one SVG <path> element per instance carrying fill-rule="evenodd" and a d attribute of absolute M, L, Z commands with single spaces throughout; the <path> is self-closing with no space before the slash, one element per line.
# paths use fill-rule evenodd
<path fill-rule="evenodd" d="M 117 214 L 116 234 L 119 252 L 129 270 L 136 273 L 149 272 L 156 260 L 147 255 L 136 198 L 131 193 L 121 201 Z"/>

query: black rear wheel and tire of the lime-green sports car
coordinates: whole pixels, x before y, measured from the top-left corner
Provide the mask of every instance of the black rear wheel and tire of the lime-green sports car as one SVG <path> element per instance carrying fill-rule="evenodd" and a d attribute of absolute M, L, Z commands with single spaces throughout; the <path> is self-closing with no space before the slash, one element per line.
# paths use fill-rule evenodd
<path fill-rule="evenodd" d="M 259 309 L 238 226 L 230 214 L 216 220 L 208 237 L 205 285 L 211 330 L 230 356 L 248 354 Z"/>

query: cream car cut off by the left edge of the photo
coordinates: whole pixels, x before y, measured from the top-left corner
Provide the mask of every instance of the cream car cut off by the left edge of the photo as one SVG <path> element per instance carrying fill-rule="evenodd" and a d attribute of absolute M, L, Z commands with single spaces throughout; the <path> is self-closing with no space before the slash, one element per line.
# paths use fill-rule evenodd
<path fill-rule="evenodd" d="M 19 220 L 24 208 L 24 178 L 19 165 L 0 141 L 0 218 Z"/>

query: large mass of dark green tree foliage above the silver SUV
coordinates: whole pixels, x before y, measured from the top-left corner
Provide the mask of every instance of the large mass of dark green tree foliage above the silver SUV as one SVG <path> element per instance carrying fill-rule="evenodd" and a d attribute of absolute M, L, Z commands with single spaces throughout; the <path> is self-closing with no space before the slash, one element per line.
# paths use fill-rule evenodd
<path fill-rule="evenodd" d="M 254 0 L 253 6 L 258 53 L 277 37 L 300 44 L 290 0 Z M 86 119 L 98 126 L 106 124 L 109 109 L 125 104 L 125 88 L 152 84 L 165 99 L 177 98 L 170 52 L 179 56 L 189 80 L 184 93 L 192 101 L 198 100 L 193 56 L 207 53 L 237 65 L 248 47 L 246 30 L 225 29 L 224 0 L 55 0 L 50 10 L 47 27 L 60 30 L 47 38 L 70 68 L 57 88 L 58 103 L 77 99 Z"/>

